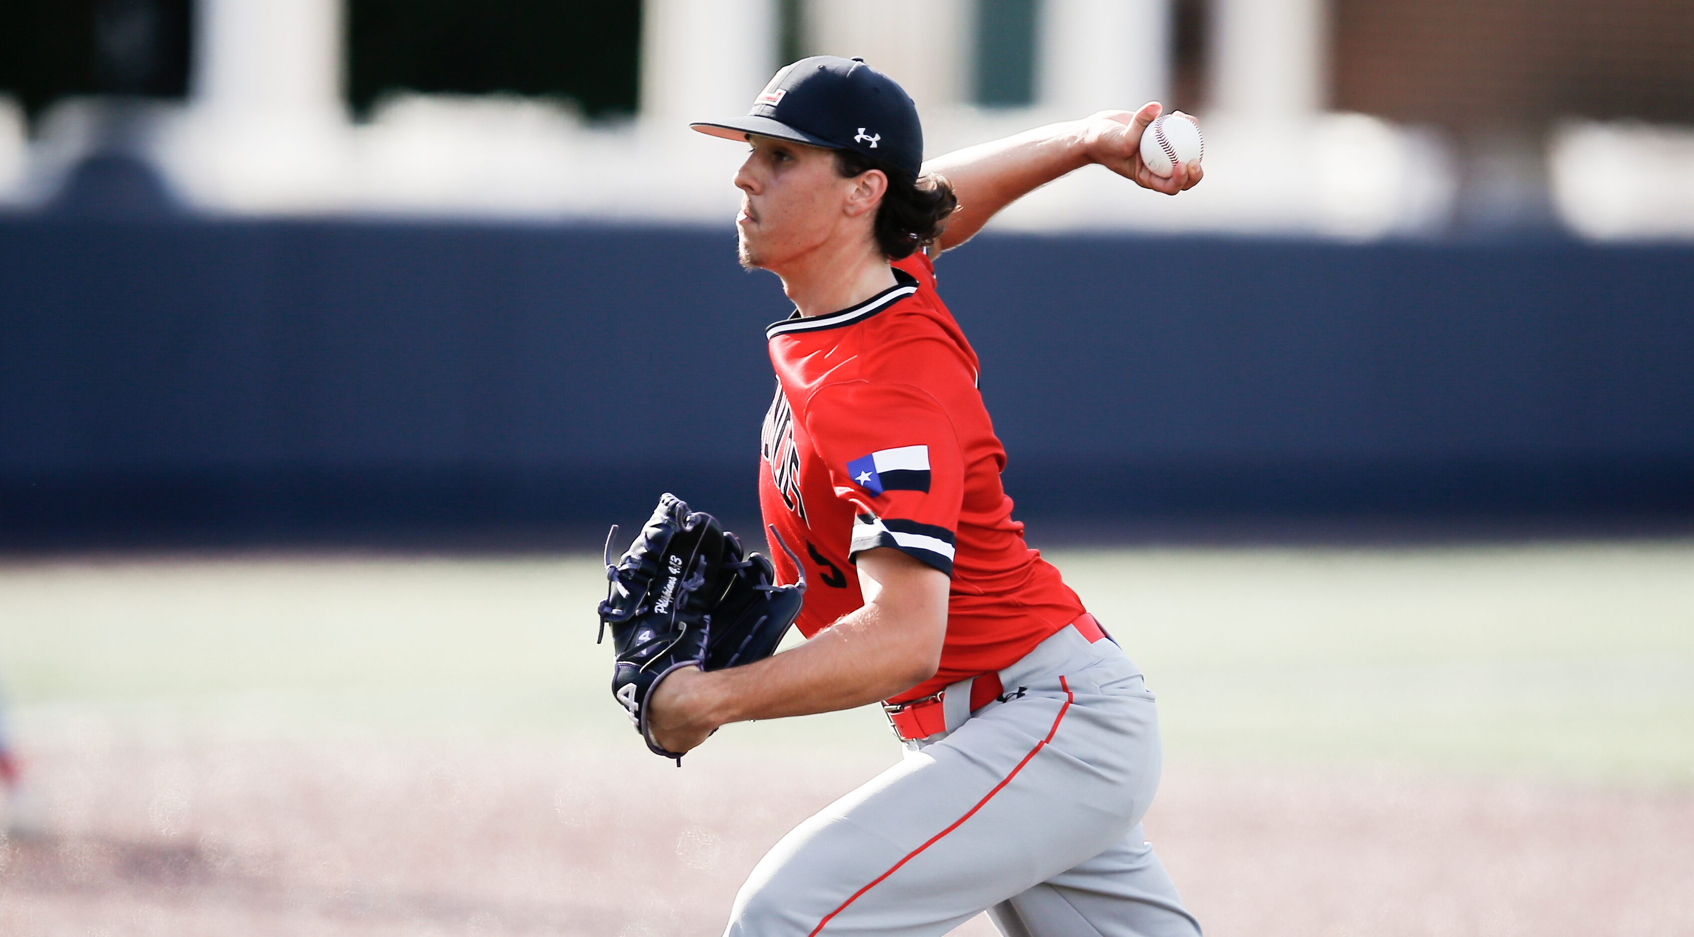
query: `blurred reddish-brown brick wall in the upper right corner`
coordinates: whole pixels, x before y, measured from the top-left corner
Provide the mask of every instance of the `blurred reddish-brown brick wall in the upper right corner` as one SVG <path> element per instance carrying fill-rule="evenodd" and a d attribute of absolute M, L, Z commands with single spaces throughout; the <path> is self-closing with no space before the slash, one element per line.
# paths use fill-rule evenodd
<path fill-rule="evenodd" d="M 1331 0 L 1333 107 L 1459 130 L 1694 124 L 1694 0 Z"/>

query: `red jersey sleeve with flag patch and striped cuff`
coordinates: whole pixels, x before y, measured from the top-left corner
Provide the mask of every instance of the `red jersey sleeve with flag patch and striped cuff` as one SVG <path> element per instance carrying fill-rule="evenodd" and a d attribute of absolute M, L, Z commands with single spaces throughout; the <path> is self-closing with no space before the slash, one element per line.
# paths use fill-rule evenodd
<path fill-rule="evenodd" d="M 933 396 L 908 385 L 825 386 L 806 405 L 806 432 L 835 496 L 854 507 L 849 559 L 894 547 L 952 576 L 964 452 Z"/>

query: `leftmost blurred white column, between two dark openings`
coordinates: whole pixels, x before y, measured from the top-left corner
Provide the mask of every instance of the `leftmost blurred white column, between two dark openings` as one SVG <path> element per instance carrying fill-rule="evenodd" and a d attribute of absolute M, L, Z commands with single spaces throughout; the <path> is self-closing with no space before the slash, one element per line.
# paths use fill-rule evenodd
<path fill-rule="evenodd" d="M 193 103 L 219 117 L 342 114 L 340 0 L 198 0 Z"/>

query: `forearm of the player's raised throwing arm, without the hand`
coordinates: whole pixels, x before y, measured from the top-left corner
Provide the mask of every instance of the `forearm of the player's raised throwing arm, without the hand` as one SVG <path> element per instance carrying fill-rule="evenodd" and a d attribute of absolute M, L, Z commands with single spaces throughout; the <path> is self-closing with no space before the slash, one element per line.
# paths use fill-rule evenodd
<path fill-rule="evenodd" d="M 947 176 L 959 197 L 940 249 L 964 244 L 1006 205 L 1088 163 L 1079 120 L 1035 127 L 930 159 L 923 171 Z"/>

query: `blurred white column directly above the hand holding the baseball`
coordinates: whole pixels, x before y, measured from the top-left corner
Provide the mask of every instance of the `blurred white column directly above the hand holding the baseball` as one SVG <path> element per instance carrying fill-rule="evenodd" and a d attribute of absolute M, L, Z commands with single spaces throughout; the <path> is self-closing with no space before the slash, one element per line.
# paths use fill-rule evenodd
<path fill-rule="evenodd" d="M 1042 107 L 1081 117 L 1171 93 L 1169 0 L 1045 0 L 1040 10 Z"/>

